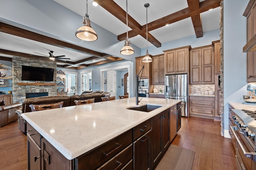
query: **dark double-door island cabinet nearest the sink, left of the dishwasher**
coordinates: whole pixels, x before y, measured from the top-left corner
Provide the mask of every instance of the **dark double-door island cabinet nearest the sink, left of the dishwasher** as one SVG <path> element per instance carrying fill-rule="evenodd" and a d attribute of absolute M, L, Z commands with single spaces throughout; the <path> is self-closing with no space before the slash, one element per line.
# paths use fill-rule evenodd
<path fill-rule="evenodd" d="M 170 109 L 166 109 L 152 117 L 152 169 L 154 169 L 169 145 Z"/>

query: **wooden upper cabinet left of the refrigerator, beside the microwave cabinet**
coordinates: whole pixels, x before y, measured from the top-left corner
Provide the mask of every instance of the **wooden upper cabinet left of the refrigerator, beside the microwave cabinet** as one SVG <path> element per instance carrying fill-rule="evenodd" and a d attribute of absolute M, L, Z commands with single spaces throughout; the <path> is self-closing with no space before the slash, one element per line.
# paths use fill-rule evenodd
<path fill-rule="evenodd" d="M 152 84 L 164 84 L 164 54 L 152 57 Z"/>

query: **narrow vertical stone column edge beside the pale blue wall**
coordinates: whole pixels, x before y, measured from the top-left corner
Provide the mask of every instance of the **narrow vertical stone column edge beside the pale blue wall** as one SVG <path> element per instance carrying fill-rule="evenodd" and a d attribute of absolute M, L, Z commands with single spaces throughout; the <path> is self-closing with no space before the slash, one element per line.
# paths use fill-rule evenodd
<path fill-rule="evenodd" d="M 220 134 L 224 137 L 224 48 L 223 48 L 223 39 L 224 39 L 224 20 L 223 20 L 223 0 L 220 2 Z"/>

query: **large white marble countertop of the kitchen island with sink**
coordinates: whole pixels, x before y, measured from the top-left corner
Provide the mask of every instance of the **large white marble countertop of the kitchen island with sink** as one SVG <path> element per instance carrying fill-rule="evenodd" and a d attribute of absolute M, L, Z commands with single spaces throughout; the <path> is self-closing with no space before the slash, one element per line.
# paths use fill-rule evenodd
<path fill-rule="evenodd" d="M 150 119 L 181 100 L 142 98 L 161 105 L 150 112 L 128 110 L 136 98 L 22 113 L 22 117 L 67 159 L 72 160 Z"/>

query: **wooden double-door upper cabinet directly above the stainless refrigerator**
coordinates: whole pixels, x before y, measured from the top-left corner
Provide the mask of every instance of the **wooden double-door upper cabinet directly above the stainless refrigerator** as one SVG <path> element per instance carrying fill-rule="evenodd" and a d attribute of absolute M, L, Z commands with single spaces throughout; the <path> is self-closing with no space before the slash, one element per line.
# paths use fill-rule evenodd
<path fill-rule="evenodd" d="M 188 58 L 191 47 L 180 47 L 164 51 L 165 74 L 188 73 Z"/>

